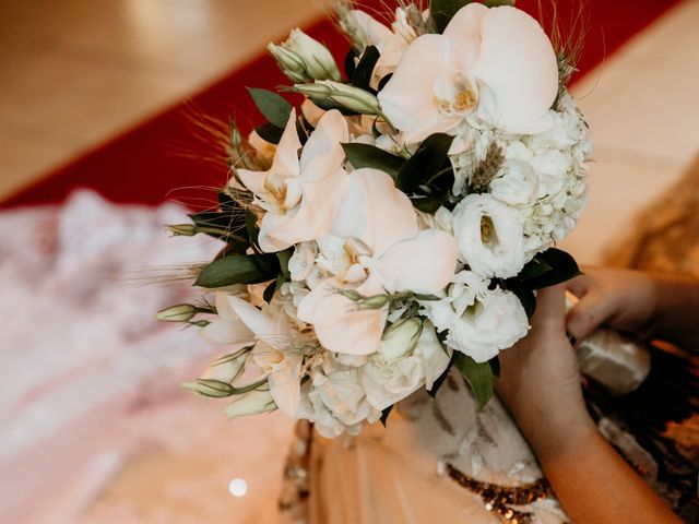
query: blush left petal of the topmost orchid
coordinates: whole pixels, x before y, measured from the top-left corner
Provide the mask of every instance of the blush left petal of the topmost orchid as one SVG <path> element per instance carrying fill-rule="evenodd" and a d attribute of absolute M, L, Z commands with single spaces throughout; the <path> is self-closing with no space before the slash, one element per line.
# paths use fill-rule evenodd
<path fill-rule="evenodd" d="M 378 94 L 381 111 L 403 131 L 406 143 L 452 129 L 462 117 L 446 117 L 433 86 L 452 70 L 451 43 L 442 35 L 423 35 L 405 50 L 391 80 Z"/>

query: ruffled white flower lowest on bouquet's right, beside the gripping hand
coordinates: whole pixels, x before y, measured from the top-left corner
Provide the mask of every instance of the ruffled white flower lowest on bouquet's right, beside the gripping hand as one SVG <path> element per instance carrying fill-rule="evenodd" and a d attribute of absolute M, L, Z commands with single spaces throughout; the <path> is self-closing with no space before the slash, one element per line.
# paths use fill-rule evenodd
<path fill-rule="evenodd" d="M 520 300 L 470 271 L 454 276 L 447 296 L 423 303 L 447 345 L 485 362 L 526 335 L 529 321 Z"/>

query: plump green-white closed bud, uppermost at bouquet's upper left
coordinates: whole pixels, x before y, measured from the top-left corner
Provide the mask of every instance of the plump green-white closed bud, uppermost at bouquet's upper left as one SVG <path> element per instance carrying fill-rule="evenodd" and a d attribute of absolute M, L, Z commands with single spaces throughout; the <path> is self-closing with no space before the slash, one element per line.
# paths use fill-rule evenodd
<path fill-rule="evenodd" d="M 268 50 L 295 84 L 313 80 L 342 80 L 337 63 L 328 48 L 298 28 L 293 29 L 281 46 L 270 44 Z"/>

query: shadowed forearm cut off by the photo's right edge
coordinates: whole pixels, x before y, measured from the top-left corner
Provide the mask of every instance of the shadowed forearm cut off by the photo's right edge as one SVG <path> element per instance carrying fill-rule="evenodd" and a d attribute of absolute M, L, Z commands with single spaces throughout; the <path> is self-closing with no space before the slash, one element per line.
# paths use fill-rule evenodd
<path fill-rule="evenodd" d="M 699 281 L 656 276 L 651 335 L 682 347 L 699 348 Z"/>

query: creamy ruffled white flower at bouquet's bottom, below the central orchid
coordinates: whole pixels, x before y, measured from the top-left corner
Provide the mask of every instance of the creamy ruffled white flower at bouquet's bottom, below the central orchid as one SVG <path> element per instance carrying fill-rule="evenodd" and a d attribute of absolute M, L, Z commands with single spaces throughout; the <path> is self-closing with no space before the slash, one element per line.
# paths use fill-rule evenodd
<path fill-rule="evenodd" d="M 447 369 L 450 356 L 442 349 L 431 323 L 413 318 L 396 325 L 401 344 L 381 344 L 363 369 L 363 384 L 369 403 L 377 409 L 402 401 L 422 386 L 433 388 Z M 407 333 L 405 333 L 407 332 Z M 395 332 L 387 333 L 393 338 Z M 411 342 L 408 342 L 411 341 Z M 384 336 L 384 342 L 387 337 Z"/>

